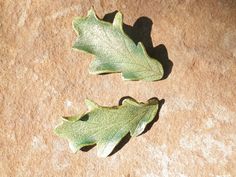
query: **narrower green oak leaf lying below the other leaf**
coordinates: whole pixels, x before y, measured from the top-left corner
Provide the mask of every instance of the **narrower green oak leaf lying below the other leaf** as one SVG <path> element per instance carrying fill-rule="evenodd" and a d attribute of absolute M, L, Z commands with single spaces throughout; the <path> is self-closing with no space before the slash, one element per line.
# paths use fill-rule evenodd
<path fill-rule="evenodd" d="M 99 106 L 91 100 L 85 103 L 88 112 L 63 117 L 54 132 L 69 141 L 73 152 L 96 144 L 99 157 L 107 157 L 129 132 L 132 137 L 140 135 L 155 118 L 159 106 L 156 98 L 147 103 L 126 98 L 122 105 L 114 107 Z"/>

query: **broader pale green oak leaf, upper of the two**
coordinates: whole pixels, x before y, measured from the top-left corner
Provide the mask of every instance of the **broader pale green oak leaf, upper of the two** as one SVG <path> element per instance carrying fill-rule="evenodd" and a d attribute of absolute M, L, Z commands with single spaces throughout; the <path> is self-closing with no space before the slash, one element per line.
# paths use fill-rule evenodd
<path fill-rule="evenodd" d="M 91 74 L 122 73 L 124 80 L 160 80 L 160 62 L 148 56 L 141 42 L 136 45 L 126 35 L 122 24 L 120 12 L 111 24 L 98 19 L 91 9 L 86 17 L 73 20 L 78 35 L 73 48 L 96 56 L 89 67 Z"/>

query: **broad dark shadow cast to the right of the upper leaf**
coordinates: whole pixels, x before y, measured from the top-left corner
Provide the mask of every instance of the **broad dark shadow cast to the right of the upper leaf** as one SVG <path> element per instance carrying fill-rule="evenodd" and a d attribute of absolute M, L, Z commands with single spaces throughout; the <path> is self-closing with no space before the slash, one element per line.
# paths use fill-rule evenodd
<path fill-rule="evenodd" d="M 118 11 L 114 11 L 106 14 L 103 17 L 104 21 L 113 22 L 115 14 Z M 166 79 L 172 71 L 173 62 L 168 58 L 168 52 L 164 44 L 160 44 L 156 47 L 153 46 L 151 38 L 153 22 L 148 17 L 140 17 L 136 20 L 133 26 L 123 23 L 124 32 L 137 44 L 142 42 L 148 55 L 158 60 L 164 69 L 164 75 L 161 80 Z"/>

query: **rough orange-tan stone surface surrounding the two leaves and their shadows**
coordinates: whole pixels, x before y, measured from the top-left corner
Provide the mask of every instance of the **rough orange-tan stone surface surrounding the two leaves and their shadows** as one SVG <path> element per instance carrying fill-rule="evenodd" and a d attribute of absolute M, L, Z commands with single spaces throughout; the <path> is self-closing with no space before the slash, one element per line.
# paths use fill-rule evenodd
<path fill-rule="evenodd" d="M 121 10 L 129 25 L 150 18 L 153 46 L 164 44 L 173 62 L 169 77 L 89 75 L 93 56 L 71 50 L 71 21 L 91 5 L 101 18 Z M 236 176 L 235 0 L 1 0 L 0 8 L 1 176 Z M 165 103 L 152 128 L 113 156 L 73 154 L 52 133 L 58 117 L 85 110 L 85 98 L 116 105 L 123 96 Z"/>

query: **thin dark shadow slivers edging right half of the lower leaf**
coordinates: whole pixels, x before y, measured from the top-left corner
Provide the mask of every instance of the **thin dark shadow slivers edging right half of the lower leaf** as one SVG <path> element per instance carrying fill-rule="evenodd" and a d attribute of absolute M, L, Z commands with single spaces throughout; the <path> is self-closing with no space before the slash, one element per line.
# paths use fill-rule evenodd
<path fill-rule="evenodd" d="M 119 101 L 119 105 L 122 105 L 122 102 L 127 98 L 133 99 L 130 96 L 122 97 Z M 152 99 L 158 100 L 158 98 L 156 98 L 156 97 L 150 98 L 149 100 L 152 100 Z M 165 100 L 162 99 L 162 100 L 158 100 L 158 101 L 159 101 L 159 107 L 158 107 L 158 111 L 157 111 L 156 116 L 154 117 L 154 119 L 149 124 L 147 124 L 145 130 L 140 135 L 142 135 L 142 134 L 146 133 L 147 131 L 149 131 L 152 128 L 153 124 L 158 121 L 159 113 L 160 113 L 162 105 L 165 103 Z M 122 138 L 122 140 L 119 142 L 119 144 L 116 145 L 116 147 L 113 149 L 113 151 L 111 152 L 111 154 L 109 156 L 112 156 L 113 154 L 115 154 L 116 152 L 121 150 L 129 142 L 130 138 L 131 138 L 130 133 L 128 133 L 124 138 Z"/>

